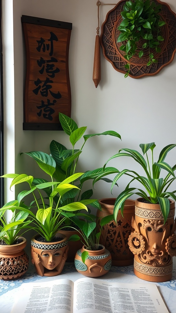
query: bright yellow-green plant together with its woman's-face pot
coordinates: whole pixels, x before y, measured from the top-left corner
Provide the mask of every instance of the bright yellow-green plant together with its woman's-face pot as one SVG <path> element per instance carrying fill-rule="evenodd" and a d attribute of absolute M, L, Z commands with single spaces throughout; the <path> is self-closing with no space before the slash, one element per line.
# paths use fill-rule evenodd
<path fill-rule="evenodd" d="M 54 159 L 44 152 L 40 152 L 39 155 L 40 161 L 37 161 L 39 167 L 51 177 L 51 181 L 33 186 L 33 176 L 27 174 L 3 175 L 3 177 L 13 178 L 10 187 L 23 182 L 27 182 L 29 185 L 28 190 L 23 190 L 18 194 L 15 205 L 13 203 L 13 205 L 6 206 L 3 209 L 18 209 L 32 217 L 33 220 L 30 223 L 30 228 L 37 233 L 31 240 L 32 262 L 39 275 L 54 276 L 60 274 L 62 271 L 68 253 L 67 238 L 65 235 L 59 233 L 59 230 L 64 227 L 64 220 L 69 218 L 71 212 L 80 209 L 87 210 L 86 205 L 95 200 L 81 200 L 80 202 L 71 202 L 60 206 L 60 201 L 66 192 L 73 188 L 78 189 L 72 182 L 78 179 L 83 173 L 75 173 L 62 182 L 54 182 Z M 49 198 L 45 198 L 41 190 L 48 187 L 51 187 L 52 191 Z M 26 208 L 23 204 L 23 199 L 29 194 L 33 195 L 34 200 Z M 53 205 L 53 198 L 55 196 L 58 196 L 56 206 Z M 34 212 L 35 208 L 37 208 L 36 214 Z"/>

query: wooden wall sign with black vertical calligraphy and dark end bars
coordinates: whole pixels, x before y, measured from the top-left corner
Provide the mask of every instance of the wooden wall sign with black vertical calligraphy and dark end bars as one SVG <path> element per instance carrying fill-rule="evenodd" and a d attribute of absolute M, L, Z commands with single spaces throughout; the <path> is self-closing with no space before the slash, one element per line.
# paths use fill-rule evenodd
<path fill-rule="evenodd" d="M 23 130 L 62 130 L 71 115 L 68 68 L 72 23 L 22 15 L 27 70 Z"/>

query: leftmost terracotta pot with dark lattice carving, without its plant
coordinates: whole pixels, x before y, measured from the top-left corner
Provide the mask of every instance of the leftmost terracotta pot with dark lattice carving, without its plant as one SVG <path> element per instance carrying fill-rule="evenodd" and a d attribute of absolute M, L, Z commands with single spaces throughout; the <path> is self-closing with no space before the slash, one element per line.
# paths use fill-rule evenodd
<path fill-rule="evenodd" d="M 26 239 L 19 237 L 23 241 L 19 244 L 0 244 L 0 279 L 13 280 L 20 278 L 26 273 L 29 265 L 28 255 L 24 252 Z"/>

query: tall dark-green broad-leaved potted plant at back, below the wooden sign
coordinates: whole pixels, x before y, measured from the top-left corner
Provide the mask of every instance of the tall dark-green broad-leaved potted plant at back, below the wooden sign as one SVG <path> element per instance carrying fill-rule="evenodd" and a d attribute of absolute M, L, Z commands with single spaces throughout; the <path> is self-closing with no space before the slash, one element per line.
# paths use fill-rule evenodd
<path fill-rule="evenodd" d="M 105 131 L 103 133 L 93 133 L 93 134 L 87 134 L 85 135 L 86 126 L 84 127 L 78 127 L 76 122 L 71 119 L 69 116 L 64 115 L 62 113 L 59 114 L 59 119 L 61 126 L 63 128 L 63 131 L 66 135 L 69 136 L 70 139 L 70 147 L 67 149 L 63 144 L 52 140 L 50 143 L 50 152 L 51 156 L 54 159 L 55 162 L 55 171 L 53 173 L 53 178 L 57 182 L 64 181 L 67 177 L 70 175 L 73 175 L 76 172 L 78 160 L 80 157 L 80 154 L 83 150 L 83 147 L 85 145 L 85 142 L 93 137 L 93 136 L 100 136 L 100 135 L 110 135 L 115 136 L 117 138 L 121 139 L 121 136 L 116 131 Z M 77 148 L 77 143 L 80 140 L 83 140 L 81 143 L 81 147 Z M 47 159 L 43 158 L 42 152 L 40 151 L 31 151 L 26 152 L 28 156 L 31 156 L 36 162 L 44 162 L 47 163 Z M 107 168 L 108 170 L 108 168 Z M 98 168 L 96 170 L 87 171 L 83 176 L 79 177 L 79 180 L 75 180 L 73 184 L 75 184 L 78 188 L 70 189 L 68 190 L 64 196 L 60 199 L 59 206 L 67 205 L 71 202 L 75 201 L 82 201 L 82 200 L 89 200 L 93 195 L 93 190 L 89 189 L 84 192 L 82 192 L 83 183 L 86 180 L 93 179 L 97 177 L 100 173 L 103 172 L 103 168 Z M 102 178 L 106 180 L 107 182 L 112 182 L 110 179 Z M 37 185 L 39 183 L 46 183 L 47 181 L 44 179 L 34 178 L 32 184 Z M 45 186 L 45 185 L 44 185 Z M 50 193 L 52 192 L 51 187 L 47 186 L 43 188 L 46 192 L 47 196 L 49 197 Z M 53 198 L 53 204 L 58 205 L 58 195 L 55 195 Z M 91 201 L 91 206 L 101 209 L 100 204 L 98 201 Z M 81 213 L 79 210 L 77 211 L 78 214 Z M 65 218 L 63 220 L 63 223 L 65 224 L 65 229 L 62 230 L 63 233 L 67 235 L 67 237 L 70 237 L 70 231 L 73 233 L 73 228 L 70 228 L 71 226 L 74 226 L 74 223 L 71 218 Z M 76 230 L 74 231 L 76 233 Z M 71 243 L 69 242 L 69 245 L 71 246 L 71 249 L 69 250 L 69 255 L 67 261 L 74 261 L 75 253 L 78 249 L 78 245 L 81 245 L 81 243 Z M 74 246 L 75 245 L 75 249 Z"/>

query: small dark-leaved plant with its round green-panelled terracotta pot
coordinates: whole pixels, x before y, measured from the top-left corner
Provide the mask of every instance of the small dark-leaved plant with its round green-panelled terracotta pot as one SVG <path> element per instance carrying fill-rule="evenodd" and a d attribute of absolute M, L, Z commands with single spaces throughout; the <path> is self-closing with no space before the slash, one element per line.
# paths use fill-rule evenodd
<path fill-rule="evenodd" d="M 79 233 L 83 247 L 75 255 L 76 270 L 89 277 L 106 274 L 111 268 L 111 254 L 100 244 L 102 228 L 113 219 L 113 214 L 98 219 L 88 215 L 84 221 L 75 217 L 75 225 L 79 226 Z"/>

